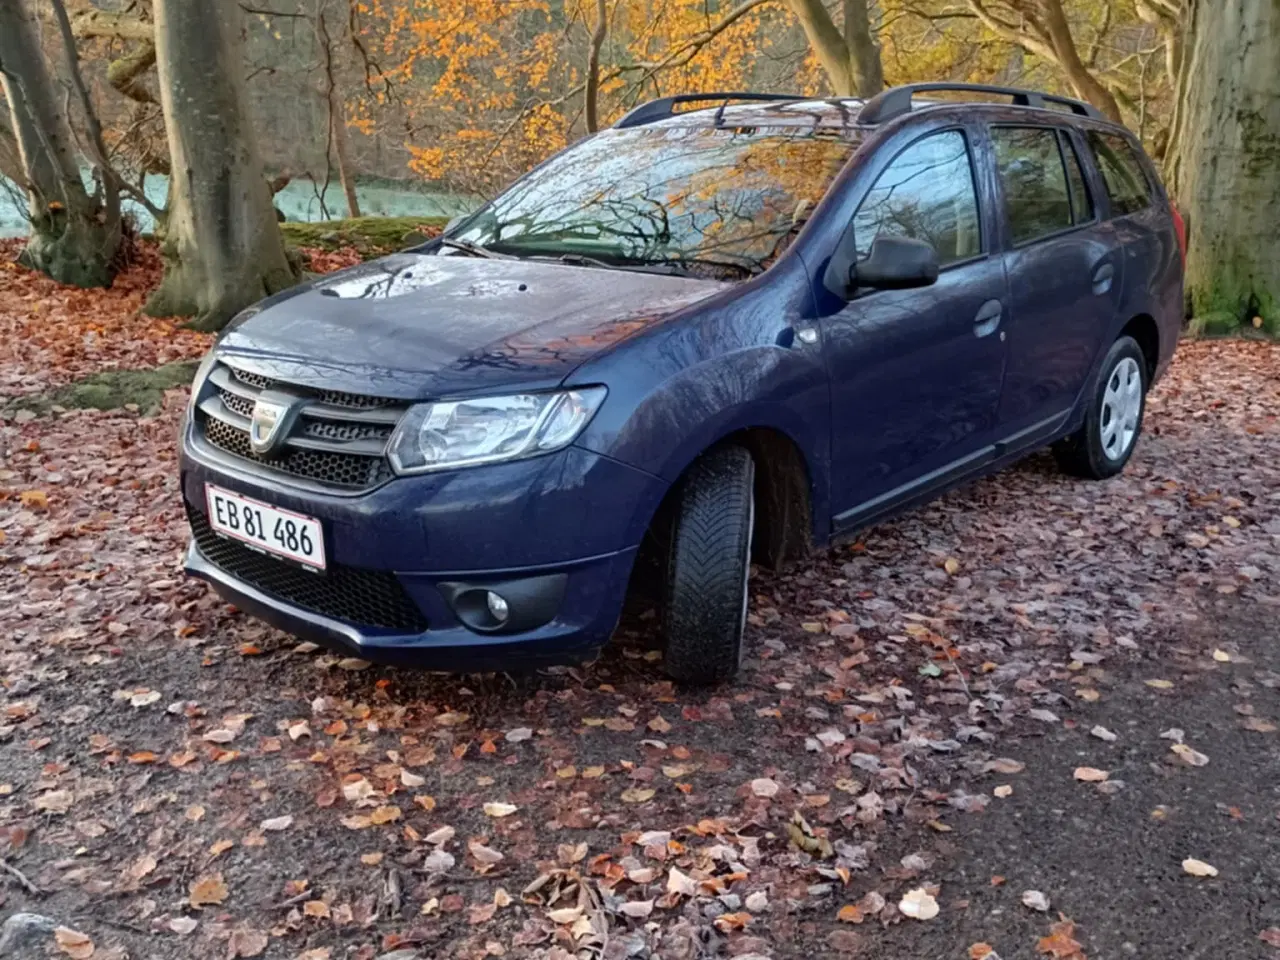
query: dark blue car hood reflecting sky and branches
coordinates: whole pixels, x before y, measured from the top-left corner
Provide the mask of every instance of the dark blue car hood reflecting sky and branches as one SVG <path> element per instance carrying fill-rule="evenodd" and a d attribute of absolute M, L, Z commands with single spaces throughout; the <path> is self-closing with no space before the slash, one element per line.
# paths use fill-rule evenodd
<path fill-rule="evenodd" d="M 238 366 L 402 399 L 547 389 L 603 349 L 731 284 L 396 253 L 264 301 L 219 342 Z"/>

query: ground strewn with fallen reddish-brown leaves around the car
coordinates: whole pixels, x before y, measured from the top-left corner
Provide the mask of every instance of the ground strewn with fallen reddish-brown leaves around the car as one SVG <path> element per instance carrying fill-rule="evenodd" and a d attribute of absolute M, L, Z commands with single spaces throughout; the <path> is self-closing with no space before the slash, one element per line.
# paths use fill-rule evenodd
<path fill-rule="evenodd" d="M 134 316 L 146 285 L 0 264 L 0 394 L 198 355 Z M 1043 776 L 1105 815 L 1126 786 L 1091 712 L 1240 669 L 1226 735 L 1280 749 L 1275 675 L 1188 640 L 1212 603 L 1280 605 L 1275 346 L 1184 344 L 1119 479 L 1037 456 L 754 576 L 751 657 L 704 692 L 660 678 L 643 618 L 596 664 L 509 678 L 340 660 L 234 612 L 179 568 L 184 402 L 0 421 L 0 910 L 54 918 L 64 955 L 984 956 L 911 945 L 975 909 L 956 840 L 1016 836 L 1042 737 L 1079 733 L 1107 780 Z M 1176 788 L 1213 771 L 1144 736 Z M 1275 844 L 1280 797 L 1256 809 Z M 1221 876 L 1187 882 L 1248 896 L 1199 856 Z M 1023 892 L 997 901 L 1027 925 L 1006 960 L 1084 956 Z"/>

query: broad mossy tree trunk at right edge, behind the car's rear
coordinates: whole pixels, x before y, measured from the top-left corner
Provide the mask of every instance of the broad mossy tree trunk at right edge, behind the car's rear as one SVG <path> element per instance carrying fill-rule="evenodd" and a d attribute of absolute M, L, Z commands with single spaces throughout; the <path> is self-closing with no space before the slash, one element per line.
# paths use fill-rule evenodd
<path fill-rule="evenodd" d="M 1280 334 L 1280 3 L 1193 0 L 1187 28 L 1172 179 L 1193 323 Z"/>

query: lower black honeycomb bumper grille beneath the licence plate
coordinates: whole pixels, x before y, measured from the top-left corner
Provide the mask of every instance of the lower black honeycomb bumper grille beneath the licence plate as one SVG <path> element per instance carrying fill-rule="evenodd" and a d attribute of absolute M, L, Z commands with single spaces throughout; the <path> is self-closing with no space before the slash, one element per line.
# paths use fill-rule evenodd
<path fill-rule="evenodd" d="M 412 634 L 426 630 L 426 617 L 394 573 L 337 563 L 330 563 L 324 573 L 310 573 L 219 536 L 207 517 L 189 503 L 187 518 L 205 559 L 265 594 L 355 626 Z"/>

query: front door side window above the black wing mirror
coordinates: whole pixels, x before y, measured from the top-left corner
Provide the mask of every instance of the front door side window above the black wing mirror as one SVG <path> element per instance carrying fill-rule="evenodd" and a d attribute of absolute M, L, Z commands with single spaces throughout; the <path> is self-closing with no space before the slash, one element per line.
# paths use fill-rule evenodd
<path fill-rule="evenodd" d="M 960 131 L 919 140 L 893 159 L 854 214 L 854 241 L 865 257 L 881 234 L 927 241 L 946 266 L 982 252 L 978 195 Z"/>

